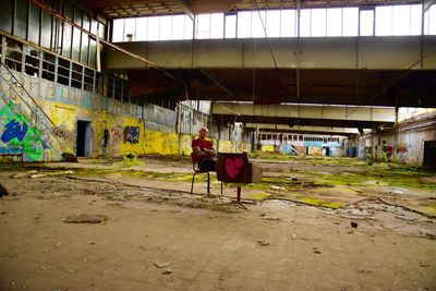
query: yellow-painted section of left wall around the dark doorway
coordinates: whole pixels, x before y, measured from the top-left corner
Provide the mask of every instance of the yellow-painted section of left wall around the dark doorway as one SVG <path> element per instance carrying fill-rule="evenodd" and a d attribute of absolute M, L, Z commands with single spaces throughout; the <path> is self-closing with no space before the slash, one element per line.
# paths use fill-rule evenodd
<path fill-rule="evenodd" d="M 147 130 L 141 119 L 109 113 L 105 110 L 88 110 L 73 105 L 50 102 L 39 100 L 38 104 L 57 125 L 56 135 L 49 135 L 51 143 L 59 151 L 69 151 L 75 154 L 77 119 L 92 122 L 93 131 L 93 151 L 92 156 L 125 156 L 135 155 L 184 155 L 192 153 L 192 140 L 195 135 L 164 133 L 159 131 Z M 138 128 L 137 143 L 124 141 L 124 129 L 126 126 Z M 105 129 L 109 132 L 107 147 L 104 147 Z M 59 146 L 56 140 L 63 144 Z M 250 144 L 235 143 L 230 141 L 214 140 L 215 147 L 219 145 L 218 151 L 221 153 L 242 153 L 250 150 Z M 66 150 L 65 150 L 66 148 Z"/>

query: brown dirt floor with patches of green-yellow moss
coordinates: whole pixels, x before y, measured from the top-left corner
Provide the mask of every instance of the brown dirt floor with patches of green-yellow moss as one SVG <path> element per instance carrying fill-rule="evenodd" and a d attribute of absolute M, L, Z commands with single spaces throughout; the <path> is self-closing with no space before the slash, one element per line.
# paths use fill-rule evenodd
<path fill-rule="evenodd" d="M 436 290 L 436 173 L 252 157 L 262 183 L 181 157 L 0 165 L 0 290 Z"/>

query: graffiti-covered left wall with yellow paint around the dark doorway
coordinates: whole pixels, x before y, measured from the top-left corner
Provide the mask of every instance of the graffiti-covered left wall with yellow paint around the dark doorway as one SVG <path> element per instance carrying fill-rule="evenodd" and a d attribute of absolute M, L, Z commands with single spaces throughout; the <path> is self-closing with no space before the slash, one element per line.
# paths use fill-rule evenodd
<path fill-rule="evenodd" d="M 2 72 L 7 73 L 7 72 Z M 14 72 L 20 83 L 43 111 L 32 113 L 11 84 L 0 86 L 0 160 L 60 160 L 61 154 L 76 154 L 77 120 L 90 123 L 90 155 L 124 156 L 190 155 L 195 135 L 177 134 L 177 112 L 155 105 L 144 107 L 105 98 L 101 95 L 70 88 L 47 80 Z M 29 97 L 24 96 L 25 99 Z M 56 128 L 55 128 L 56 126 Z M 243 142 L 215 140 L 218 151 L 250 151 Z"/>

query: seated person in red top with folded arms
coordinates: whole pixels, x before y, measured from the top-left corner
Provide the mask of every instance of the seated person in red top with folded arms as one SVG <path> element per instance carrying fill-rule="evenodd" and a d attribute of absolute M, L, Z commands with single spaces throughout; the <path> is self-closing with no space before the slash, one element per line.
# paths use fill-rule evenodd
<path fill-rule="evenodd" d="M 198 138 L 192 141 L 192 159 L 194 162 L 198 162 L 201 171 L 216 171 L 214 141 L 206 140 L 208 134 L 209 130 L 202 128 Z"/>

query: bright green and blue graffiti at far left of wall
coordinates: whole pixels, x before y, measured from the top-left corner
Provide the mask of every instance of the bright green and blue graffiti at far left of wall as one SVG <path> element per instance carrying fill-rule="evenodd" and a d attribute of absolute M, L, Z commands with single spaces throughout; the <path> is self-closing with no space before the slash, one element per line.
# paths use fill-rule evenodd
<path fill-rule="evenodd" d="M 0 118 L 4 119 L 0 140 L 11 147 L 11 153 L 16 154 L 16 149 L 22 148 L 29 160 L 39 160 L 44 155 L 40 131 L 36 126 L 29 126 L 23 113 L 14 113 L 14 108 L 15 105 L 11 101 L 0 110 Z"/>

